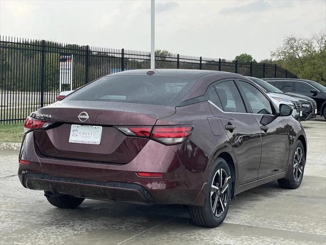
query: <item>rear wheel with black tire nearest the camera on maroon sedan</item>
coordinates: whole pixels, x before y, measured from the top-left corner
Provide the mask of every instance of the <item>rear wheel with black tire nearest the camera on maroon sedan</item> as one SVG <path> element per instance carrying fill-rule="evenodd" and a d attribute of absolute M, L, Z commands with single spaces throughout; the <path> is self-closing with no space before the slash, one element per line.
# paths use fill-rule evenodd
<path fill-rule="evenodd" d="M 221 184 L 216 182 L 216 179 L 220 181 L 219 179 L 220 176 L 222 176 L 222 187 L 223 186 L 225 187 L 224 192 L 222 192 L 222 188 L 221 189 L 215 188 L 215 187 L 221 187 Z M 214 188 L 212 187 L 213 180 L 214 180 Z M 227 189 L 226 186 L 228 186 Z M 211 192 L 213 192 L 212 195 Z M 212 167 L 211 174 L 207 181 L 207 190 L 205 195 L 204 206 L 189 207 L 189 214 L 193 222 L 196 225 L 202 227 L 217 227 L 221 225 L 229 210 L 231 193 L 232 193 L 232 182 L 231 182 L 231 172 L 230 172 L 229 165 L 226 163 L 226 161 L 223 158 L 218 158 L 216 159 Z M 217 198 L 216 204 L 212 205 L 213 202 L 215 203 L 216 197 L 219 198 Z M 219 203 L 219 206 L 217 206 L 217 203 Z M 224 207 L 222 203 L 225 204 Z M 214 207 L 215 207 L 216 215 L 213 212 Z M 221 209 L 223 209 L 224 211 L 222 212 Z"/>

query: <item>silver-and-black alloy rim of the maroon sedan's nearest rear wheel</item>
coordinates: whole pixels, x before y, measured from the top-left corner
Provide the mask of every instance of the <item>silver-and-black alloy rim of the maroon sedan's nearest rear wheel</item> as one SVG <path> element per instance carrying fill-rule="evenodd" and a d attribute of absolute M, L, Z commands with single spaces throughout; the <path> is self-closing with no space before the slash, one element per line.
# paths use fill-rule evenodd
<path fill-rule="evenodd" d="M 212 212 L 215 216 L 220 217 L 230 200 L 229 197 L 229 178 L 226 171 L 223 168 L 220 168 L 216 171 L 211 191 L 210 191 L 210 205 Z"/>

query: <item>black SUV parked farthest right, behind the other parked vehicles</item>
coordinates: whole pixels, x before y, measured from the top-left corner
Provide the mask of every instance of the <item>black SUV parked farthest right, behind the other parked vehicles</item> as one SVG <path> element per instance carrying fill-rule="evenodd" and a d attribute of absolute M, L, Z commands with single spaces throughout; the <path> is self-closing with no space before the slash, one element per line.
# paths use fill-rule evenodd
<path fill-rule="evenodd" d="M 316 102 L 316 107 L 312 105 L 313 109 L 317 109 L 317 114 L 326 119 L 326 87 L 306 79 L 265 78 L 263 80 L 283 92 L 302 94 L 310 97 Z"/>

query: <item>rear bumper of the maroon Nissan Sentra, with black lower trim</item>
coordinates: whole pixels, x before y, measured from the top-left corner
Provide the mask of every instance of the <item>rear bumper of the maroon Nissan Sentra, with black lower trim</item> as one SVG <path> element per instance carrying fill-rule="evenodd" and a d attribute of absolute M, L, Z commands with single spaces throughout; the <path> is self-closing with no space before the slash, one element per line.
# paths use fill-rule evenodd
<path fill-rule="evenodd" d="M 37 151 L 33 132 L 24 138 L 19 159 L 29 161 L 18 168 L 21 184 L 29 189 L 98 200 L 197 206 L 204 205 L 205 170 L 211 161 L 192 142 L 166 146 L 152 140 L 127 164 L 48 158 Z M 162 177 L 139 177 L 137 172 Z"/>

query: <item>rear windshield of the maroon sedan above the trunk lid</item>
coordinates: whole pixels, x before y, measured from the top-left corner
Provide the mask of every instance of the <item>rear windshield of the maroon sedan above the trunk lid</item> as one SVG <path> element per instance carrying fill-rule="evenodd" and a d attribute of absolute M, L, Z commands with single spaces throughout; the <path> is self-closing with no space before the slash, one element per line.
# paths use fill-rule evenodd
<path fill-rule="evenodd" d="M 177 106 L 196 81 L 148 75 L 107 76 L 78 89 L 64 100 Z"/>

